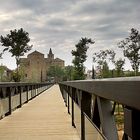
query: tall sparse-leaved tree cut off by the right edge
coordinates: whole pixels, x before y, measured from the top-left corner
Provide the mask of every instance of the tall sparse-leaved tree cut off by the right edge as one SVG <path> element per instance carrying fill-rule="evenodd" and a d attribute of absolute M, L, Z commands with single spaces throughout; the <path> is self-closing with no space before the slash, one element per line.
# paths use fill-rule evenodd
<path fill-rule="evenodd" d="M 118 43 L 118 47 L 123 50 L 123 54 L 130 60 L 131 66 L 138 74 L 140 65 L 140 34 L 139 31 L 132 28 L 128 38 Z"/>

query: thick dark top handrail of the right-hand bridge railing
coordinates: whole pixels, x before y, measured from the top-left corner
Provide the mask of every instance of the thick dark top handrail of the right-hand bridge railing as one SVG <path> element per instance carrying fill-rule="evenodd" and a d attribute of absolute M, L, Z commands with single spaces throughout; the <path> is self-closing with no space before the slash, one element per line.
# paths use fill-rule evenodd
<path fill-rule="evenodd" d="M 140 77 L 67 81 L 60 84 L 140 110 Z"/>

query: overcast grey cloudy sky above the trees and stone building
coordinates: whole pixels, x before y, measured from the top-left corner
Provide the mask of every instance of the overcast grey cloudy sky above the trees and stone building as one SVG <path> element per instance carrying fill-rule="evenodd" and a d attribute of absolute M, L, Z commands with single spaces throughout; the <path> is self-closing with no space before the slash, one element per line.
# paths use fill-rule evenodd
<path fill-rule="evenodd" d="M 94 52 L 113 48 L 119 53 L 116 44 L 130 29 L 140 31 L 139 11 L 140 0 L 1 0 L 0 34 L 23 28 L 29 32 L 32 51 L 47 56 L 52 48 L 66 65 L 71 64 L 71 50 L 79 39 L 92 38 L 95 44 L 89 47 L 85 63 L 91 69 Z M 9 53 L 0 61 L 11 69 L 16 67 Z"/>

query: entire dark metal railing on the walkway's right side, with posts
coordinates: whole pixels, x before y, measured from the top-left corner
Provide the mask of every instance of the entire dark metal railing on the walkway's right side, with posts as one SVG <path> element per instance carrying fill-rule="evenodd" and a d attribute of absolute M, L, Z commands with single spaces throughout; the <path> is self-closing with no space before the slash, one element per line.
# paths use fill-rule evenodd
<path fill-rule="evenodd" d="M 123 107 L 123 140 L 140 139 L 140 77 L 59 83 L 81 140 L 118 140 L 115 105 Z"/>

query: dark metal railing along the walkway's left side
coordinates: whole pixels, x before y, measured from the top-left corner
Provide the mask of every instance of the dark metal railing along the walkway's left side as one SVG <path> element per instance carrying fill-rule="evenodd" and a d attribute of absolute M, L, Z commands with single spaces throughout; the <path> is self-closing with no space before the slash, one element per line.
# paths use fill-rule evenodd
<path fill-rule="evenodd" d="M 52 83 L 0 83 L 0 119 L 51 86 Z"/>

